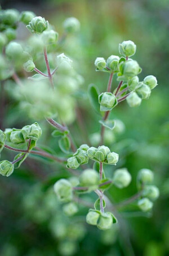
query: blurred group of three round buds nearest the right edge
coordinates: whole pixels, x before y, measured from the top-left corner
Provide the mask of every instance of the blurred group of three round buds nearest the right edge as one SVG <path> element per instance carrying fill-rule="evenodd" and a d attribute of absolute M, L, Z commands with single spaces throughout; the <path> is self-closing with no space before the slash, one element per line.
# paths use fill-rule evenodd
<path fill-rule="evenodd" d="M 141 211 L 149 211 L 153 207 L 153 201 L 159 197 L 158 187 L 152 185 L 154 174 L 152 170 L 141 169 L 137 176 L 137 186 L 141 189 L 141 199 L 138 206 Z"/>

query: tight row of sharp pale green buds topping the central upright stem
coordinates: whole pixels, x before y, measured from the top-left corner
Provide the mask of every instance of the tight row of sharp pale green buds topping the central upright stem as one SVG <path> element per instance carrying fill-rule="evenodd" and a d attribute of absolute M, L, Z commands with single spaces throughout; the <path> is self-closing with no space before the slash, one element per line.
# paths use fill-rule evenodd
<path fill-rule="evenodd" d="M 109 148 L 106 146 L 88 148 L 87 156 L 94 161 L 99 161 L 110 165 L 116 165 L 119 157 L 117 153 L 110 152 Z"/>

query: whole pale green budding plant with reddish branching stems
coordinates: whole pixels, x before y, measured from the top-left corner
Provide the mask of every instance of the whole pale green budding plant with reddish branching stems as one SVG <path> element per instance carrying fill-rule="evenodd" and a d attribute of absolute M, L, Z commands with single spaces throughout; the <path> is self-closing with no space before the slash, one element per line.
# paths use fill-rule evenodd
<path fill-rule="evenodd" d="M 66 19 L 63 24 L 64 33 L 60 39 L 54 27 L 45 18 L 35 16 L 33 12 L 24 11 L 19 14 L 12 9 L 1 10 L 0 22 L 1 82 L 5 84 L 11 79 L 16 82 L 17 86 L 13 89 L 11 97 L 15 97 L 20 102 L 20 107 L 34 119 L 34 123 L 21 129 L 0 130 L 0 151 L 7 148 L 17 153 L 14 160 L 0 162 L 0 173 L 2 176 L 10 176 L 14 169 L 19 168 L 31 155 L 55 160 L 66 170 L 76 174 L 73 178 L 61 178 L 54 184 L 57 198 L 64 203 L 64 212 L 69 216 L 77 213 L 78 194 L 96 193 L 98 198 L 94 207 L 88 211 L 86 221 L 101 230 L 110 229 L 117 223 L 118 213 L 113 210 L 104 192 L 110 186 L 119 189 L 127 187 L 132 177 L 127 168 L 121 168 L 115 170 L 112 178 L 106 178 L 106 165 L 116 165 L 120 156 L 106 146 L 105 136 L 113 129 L 121 129 L 123 125 L 121 121 L 110 120 L 109 114 L 124 100 L 129 106 L 136 107 L 142 100 L 149 99 L 152 89 L 157 86 L 157 79 L 148 75 L 143 81 L 139 81 L 141 67 L 131 58 L 136 52 L 136 45 L 132 41 L 119 44 L 120 56 L 111 55 L 107 60 L 97 57 L 94 63 L 96 71 L 109 75 L 108 87 L 103 92 L 99 93 L 94 84 L 88 88 L 90 103 L 102 117 L 100 124 L 98 123 L 98 126 L 101 126 L 100 141 L 98 145 L 96 142 L 93 145 L 86 143 L 77 147 L 68 125 L 75 120 L 75 93 L 83 83 L 83 78 L 73 68 L 72 59 L 58 52 L 65 38 L 79 31 L 79 21 L 76 18 Z M 26 42 L 16 40 L 16 28 L 19 23 L 24 23 L 32 34 Z M 18 74 L 26 76 L 26 72 L 36 74 L 19 78 Z M 112 87 L 113 78 L 117 78 L 119 82 L 117 88 Z M 42 119 L 54 127 L 52 136 L 59 138 L 60 151 L 64 156 L 56 156 L 41 145 L 37 147 L 39 138 L 43 136 L 38 124 L 38 120 Z M 74 169 L 78 169 L 78 176 Z M 152 170 L 139 170 L 138 191 L 122 204 L 136 201 L 141 211 L 151 211 L 154 200 L 159 196 L 158 188 L 153 185 L 153 178 Z M 106 211 L 106 204 L 111 211 Z"/>

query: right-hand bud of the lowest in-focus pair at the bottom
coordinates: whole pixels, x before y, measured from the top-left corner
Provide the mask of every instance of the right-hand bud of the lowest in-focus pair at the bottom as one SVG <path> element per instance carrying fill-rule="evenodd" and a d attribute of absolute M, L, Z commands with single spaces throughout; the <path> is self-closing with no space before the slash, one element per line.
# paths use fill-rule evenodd
<path fill-rule="evenodd" d="M 110 212 L 106 212 L 105 214 L 101 213 L 101 216 L 97 222 L 97 228 L 101 230 L 110 229 L 112 227 L 112 224 L 113 224 L 112 214 L 110 214 Z"/>

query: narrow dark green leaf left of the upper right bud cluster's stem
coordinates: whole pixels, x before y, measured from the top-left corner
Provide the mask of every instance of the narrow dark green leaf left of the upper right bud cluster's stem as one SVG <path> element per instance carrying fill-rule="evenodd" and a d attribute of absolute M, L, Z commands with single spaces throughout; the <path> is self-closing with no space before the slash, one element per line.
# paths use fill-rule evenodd
<path fill-rule="evenodd" d="M 99 89 L 94 84 L 90 84 L 88 87 L 88 97 L 90 104 L 95 109 L 95 111 L 100 114 L 100 104 L 98 100 L 99 94 Z"/>

